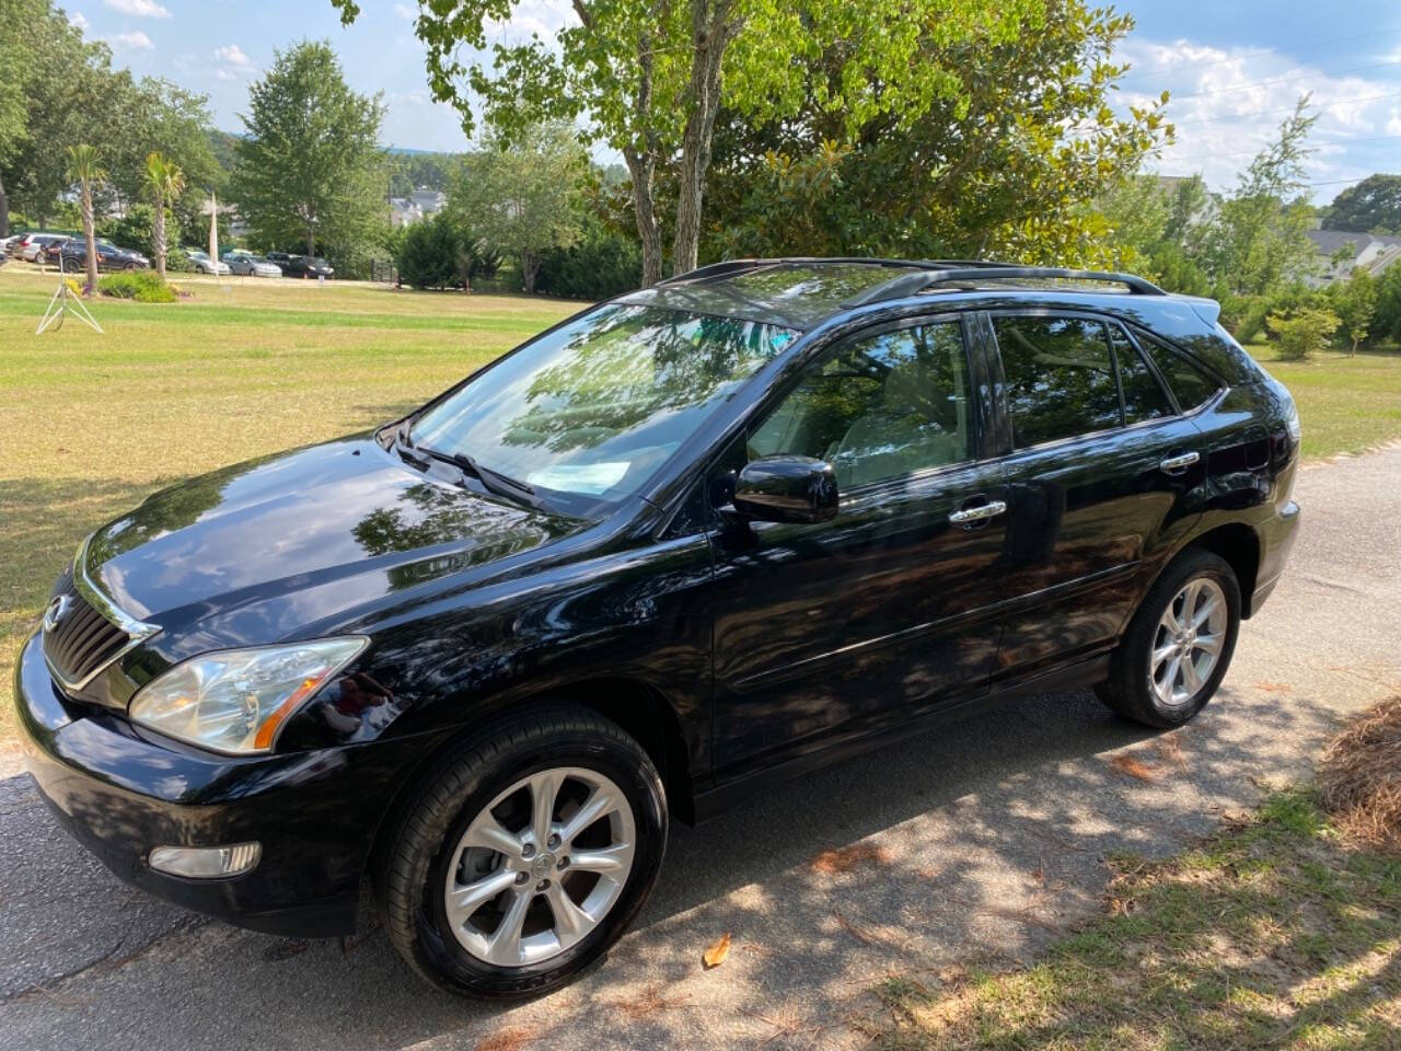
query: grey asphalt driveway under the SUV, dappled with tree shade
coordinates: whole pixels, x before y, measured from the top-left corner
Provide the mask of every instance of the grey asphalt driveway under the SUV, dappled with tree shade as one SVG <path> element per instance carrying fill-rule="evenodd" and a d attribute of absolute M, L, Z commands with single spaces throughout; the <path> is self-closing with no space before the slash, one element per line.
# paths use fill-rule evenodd
<path fill-rule="evenodd" d="M 1307 776 L 1338 716 L 1401 692 L 1401 448 L 1310 467 L 1296 497 L 1290 570 L 1191 726 L 1159 736 L 1087 692 L 1040 696 L 677 828 L 611 957 L 521 1006 L 422 985 L 380 932 L 287 942 L 149 900 L 55 825 L 28 775 L 0 779 L 0 1047 L 860 1045 L 848 1020 L 881 975 L 1033 954 L 1101 908 L 1107 855 L 1180 848 Z M 853 844 L 849 866 L 820 859 Z M 702 970 L 726 932 L 729 960 Z"/>

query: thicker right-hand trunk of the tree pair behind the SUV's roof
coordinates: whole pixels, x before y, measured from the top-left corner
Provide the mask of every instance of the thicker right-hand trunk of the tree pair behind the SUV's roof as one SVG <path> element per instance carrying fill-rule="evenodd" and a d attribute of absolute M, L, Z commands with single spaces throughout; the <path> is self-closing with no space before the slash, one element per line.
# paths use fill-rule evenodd
<path fill-rule="evenodd" d="M 705 199 L 705 175 L 710 168 L 710 144 L 715 118 L 720 111 L 720 63 L 734 34 L 726 22 L 730 0 L 716 0 L 715 7 L 696 0 L 692 7 L 692 53 L 689 112 L 681 139 L 681 172 L 677 185 L 677 234 L 671 251 L 671 272 L 693 270 L 700 245 L 700 205 Z"/>

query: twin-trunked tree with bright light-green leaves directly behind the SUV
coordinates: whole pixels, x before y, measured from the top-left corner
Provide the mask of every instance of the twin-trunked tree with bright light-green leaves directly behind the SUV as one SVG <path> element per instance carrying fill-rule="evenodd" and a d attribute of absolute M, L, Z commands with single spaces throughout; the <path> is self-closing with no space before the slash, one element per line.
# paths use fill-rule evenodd
<path fill-rule="evenodd" d="M 696 265 L 722 107 L 764 123 L 811 99 L 850 129 L 885 115 L 904 133 L 902 115 L 934 98 L 967 108 L 958 69 L 944 64 L 955 43 L 1006 45 L 1044 27 L 1044 0 L 574 0 L 577 24 L 558 41 L 489 43 L 520 1 L 420 4 L 433 97 L 458 108 L 468 135 L 478 104 L 507 137 L 542 118 L 584 119 L 584 137 L 628 165 L 649 284 L 663 273 L 665 226 L 672 272 Z M 331 3 L 346 24 L 360 11 Z M 813 94 L 808 70 L 834 48 L 842 73 Z"/>

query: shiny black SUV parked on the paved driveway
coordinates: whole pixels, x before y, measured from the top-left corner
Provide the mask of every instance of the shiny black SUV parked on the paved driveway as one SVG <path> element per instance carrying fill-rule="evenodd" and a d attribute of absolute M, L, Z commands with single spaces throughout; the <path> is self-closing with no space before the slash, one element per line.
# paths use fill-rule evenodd
<path fill-rule="evenodd" d="M 1031 691 L 1150 726 L 1281 575 L 1299 419 L 1138 277 L 727 262 L 591 307 L 374 433 L 157 493 L 17 670 L 118 874 L 356 923 L 475 995 L 637 914 L 671 816 Z"/>

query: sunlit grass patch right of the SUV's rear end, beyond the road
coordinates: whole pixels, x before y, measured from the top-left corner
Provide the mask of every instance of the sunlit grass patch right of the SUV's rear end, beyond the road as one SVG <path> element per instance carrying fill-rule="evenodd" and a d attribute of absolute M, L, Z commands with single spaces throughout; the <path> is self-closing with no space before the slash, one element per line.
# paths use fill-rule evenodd
<path fill-rule="evenodd" d="M 1401 437 L 1401 352 L 1327 352 L 1281 362 L 1275 348 L 1247 348 L 1299 404 L 1304 457 L 1360 453 Z"/>

